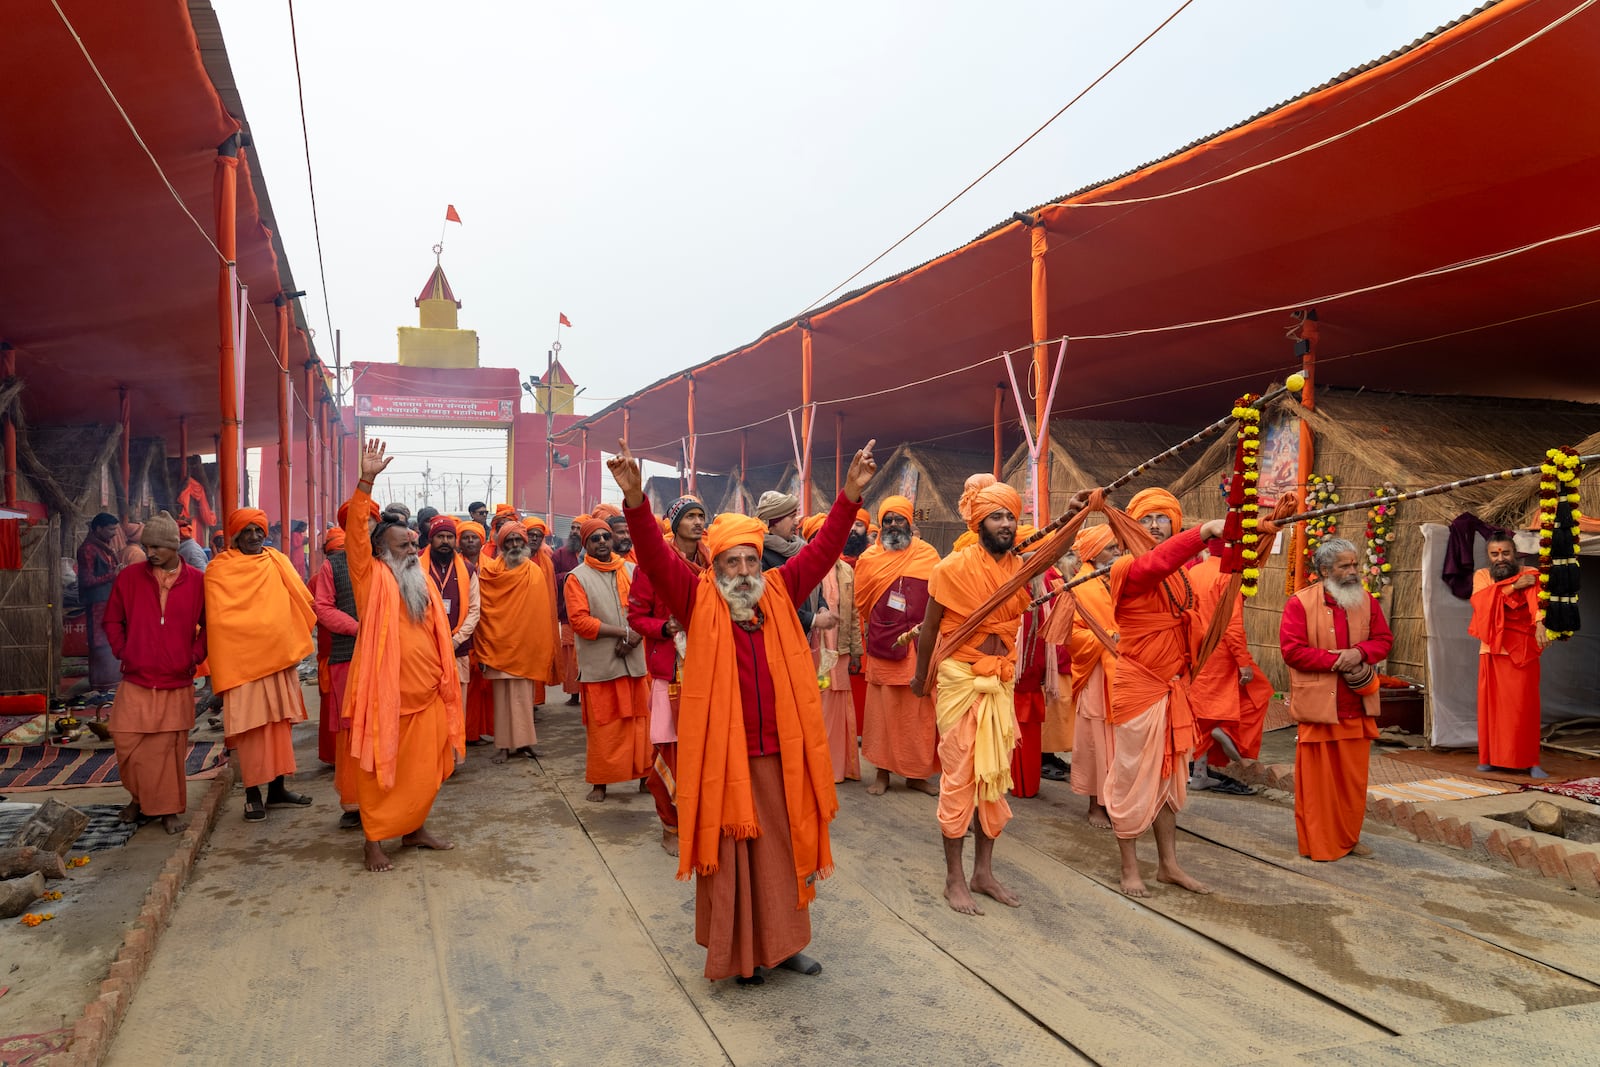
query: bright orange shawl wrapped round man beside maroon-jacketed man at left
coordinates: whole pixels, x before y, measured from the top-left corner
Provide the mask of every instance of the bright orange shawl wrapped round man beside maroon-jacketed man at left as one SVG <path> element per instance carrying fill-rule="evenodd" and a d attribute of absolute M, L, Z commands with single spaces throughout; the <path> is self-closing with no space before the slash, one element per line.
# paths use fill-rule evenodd
<path fill-rule="evenodd" d="M 211 688 L 224 693 L 293 667 L 315 651 L 310 589 L 277 549 L 221 552 L 206 566 Z"/>

